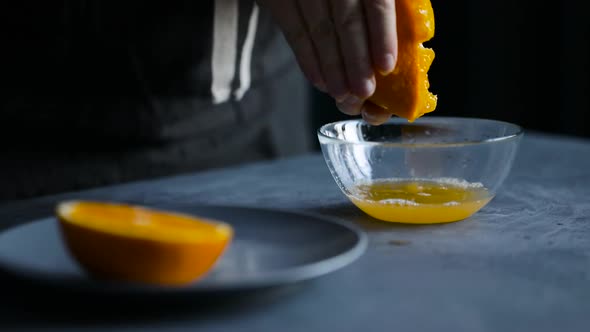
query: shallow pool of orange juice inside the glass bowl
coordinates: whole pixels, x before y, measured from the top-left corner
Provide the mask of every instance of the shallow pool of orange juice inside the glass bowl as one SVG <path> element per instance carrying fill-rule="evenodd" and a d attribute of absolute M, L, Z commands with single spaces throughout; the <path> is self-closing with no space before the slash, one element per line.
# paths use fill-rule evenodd
<path fill-rule="evenodd" d="M 349 198 L 380 220 L 433 224 L 465 219 L 493 195 L 480 183 L 457 179 L 388 179 L 358 184 Z"/>

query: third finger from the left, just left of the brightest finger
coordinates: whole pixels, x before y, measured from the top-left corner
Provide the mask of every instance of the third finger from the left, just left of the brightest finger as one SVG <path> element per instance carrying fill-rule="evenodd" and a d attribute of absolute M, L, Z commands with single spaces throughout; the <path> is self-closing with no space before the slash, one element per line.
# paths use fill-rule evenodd
<path fill-rule="evenodd" d="M 375 92 L 375 78 L 363 4 L 359 0 L 331 0 L 331 5 L 350 92 L 366 99 Z"/>

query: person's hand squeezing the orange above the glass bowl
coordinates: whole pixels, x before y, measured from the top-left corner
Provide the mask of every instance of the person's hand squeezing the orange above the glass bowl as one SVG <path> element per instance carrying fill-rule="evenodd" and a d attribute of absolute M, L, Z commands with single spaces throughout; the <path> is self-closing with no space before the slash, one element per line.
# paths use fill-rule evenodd
<path fill-rule="evenodd" d="M 269 9 L 301 70 L 338 109 L 371 124 L 391 114 L 365 100 L 375 70 L 393 71 L 397 58 L 395 0 L 258 0 Z"/>

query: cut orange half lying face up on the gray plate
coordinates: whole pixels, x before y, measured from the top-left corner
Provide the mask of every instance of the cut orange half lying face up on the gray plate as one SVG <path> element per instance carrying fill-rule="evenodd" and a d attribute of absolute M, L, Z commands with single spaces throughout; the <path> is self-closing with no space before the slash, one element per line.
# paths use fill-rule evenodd
<path fill-rule="evenodd" d="M 57 206 L 63 239 L 91 275 L 186 285 L 206 275 L 231 242 L 231 226 L 140 206 L 71 201 Z"/>

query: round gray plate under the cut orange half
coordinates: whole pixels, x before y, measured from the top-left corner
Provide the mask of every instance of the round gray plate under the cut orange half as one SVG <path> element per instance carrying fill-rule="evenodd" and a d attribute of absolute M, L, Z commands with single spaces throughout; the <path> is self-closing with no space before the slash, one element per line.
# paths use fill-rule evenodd
<path fill-rule="evenodd" d="M 172 210 L 168 208 L 169 210 Z M 99 281 L 69 256 L 57 221 L 45 218 L 0 234 L 0 269 L 21 279 L 70 290 L 106 293 L 210 293 L 290 284 L 342 268 L 365 250 L 354 226 L 309 214 L 244 207 L 175 207 L 223 220 L 235 237 L 217 265 L 186 287 L 152 287 Z"/>

